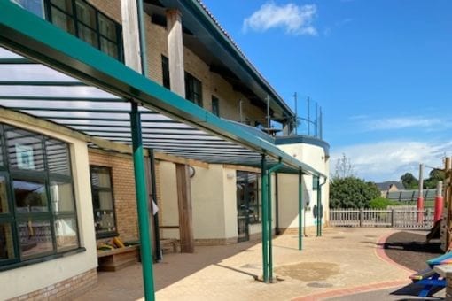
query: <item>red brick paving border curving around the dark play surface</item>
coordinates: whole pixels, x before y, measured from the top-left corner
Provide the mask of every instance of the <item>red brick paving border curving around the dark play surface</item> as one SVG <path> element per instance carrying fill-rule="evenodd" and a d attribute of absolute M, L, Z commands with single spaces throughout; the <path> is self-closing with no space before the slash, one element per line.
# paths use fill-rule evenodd
<path fill-rule="evenodd" d="M 375 254 L 377 255 L 377 257 L 379 259 L 386 261 L 388 264 L 398 266 L 401 269 L 403 269 L 409 273 L 416 273 L 415 271 L 409 269 L 406 266 L 401 266 L 400 264 L 395 262 L 393 259 L 390 259 L 386 255 L 384 245 L 386 243 L 387 237 L 389 237 L 389 235 L 392 235 L 393 233 L 394 233 L 394 231 L 390 232 L 387 235 L 383 235 L 378 239 L 377 249 L 375 250 Z M 293 301 L 316 301 L 316 300 L 323 300 L 323 299 L 331 298 L 331 297 L 344 297 L 347 295 L 355 295 L 355 294 L 364 293 L 364 292 L 368 292 L 368 291 L 372 291 L 372 290 L 391 289 L 391 288 L 399 287 L 401 285 L 409 284 L 409 283 L 411 283 L 411 282 L 408 279 L 407 280 L 399 280 L 396 282 L 394 282 L 394 281 L 393 282 L 378 282 L 378 283 L 366 284 L 366 285 L 352 287 L 352 288 L 330 290 L 330 291 L 326 291 L 323 293 L 317 293 L 317 294 L 313 294 L 313 295 L 306 296 L 306 297 L 296 297 L 292 300 Z"/>

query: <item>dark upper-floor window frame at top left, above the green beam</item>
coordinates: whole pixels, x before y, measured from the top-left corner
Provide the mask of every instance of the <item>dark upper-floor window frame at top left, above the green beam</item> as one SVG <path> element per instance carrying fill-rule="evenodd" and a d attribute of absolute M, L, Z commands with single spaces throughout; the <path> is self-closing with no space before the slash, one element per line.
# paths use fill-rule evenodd
<path fill-rule="evenodd" d="M 116 22 L 114 19 L 108 17 L 104 12 L 100 12 L 97 9 L 97 7 L 95 7 L 94 5 L 90 4 L 89 2 L 87 2 L 85 0 L 67 0 L 67 1 L 70 1 L 71 7 L 72 7 L 72 14 L 70 12 L 66 12 L 66 11 L 62 10 L 60 7 L 58 7 L 58 5 L 52 4 L 51 0 L 43 0 L 45 19 L 49 20 L 53 24 L 53 20 L 52 20 L 53 16 L 51 13 L 51 9 L 53 8 L 53 9 L 58 10 L 58 12 L 65 14 L 67 18 L 72 20 L 73 25 L 74 25 L 74 34 L 70 33 L 71 35 L 74 35 L 77 38 L 81 39 L 83 42 L 86 42 L 82 39 L 82 37 L 80 35 L 79 26 L 82 25 L 84 27 L 88 27 L 91 31 L 94 31 L 94 33 L 96 34 L 97 46 L 93 45 L 90 42 L 87 42 L 87 43 L 89 43 L 92 47 L 96 48 L 97 50 L 100 50 L 100 51 L 104 52 L 106 55 L 114 58 L 108 52 L 103 50 L 102 46 L 101 46 L 102 38 L 104 38 L 107 42 L 112 42 L 117 47 L 117 50 L 116 50 L 117 58 L 115 58 L 115 59 L 117 59 L 123 63 L 124 62 L 124 49 L 123 49 L 124 46 L 122 43 L 122 26 L 121 26 L 121 24 Z M 77 6 L 76 6 L 77 2 L 85 4 L 94 10 L 95 19 L 96 19 L 96 28 L 91 27 L 89 24 L 86 24 L 84 21 L 82 21 L 82 19 L 79 19 L 79 16 L 77 15 Z M 113 25 L 115 27 L 116 41 L 113 41 L 108 36 L 103 35 L 101 33 L 100 24 L 99 24 L 99 15 L 113 23 Z"/>

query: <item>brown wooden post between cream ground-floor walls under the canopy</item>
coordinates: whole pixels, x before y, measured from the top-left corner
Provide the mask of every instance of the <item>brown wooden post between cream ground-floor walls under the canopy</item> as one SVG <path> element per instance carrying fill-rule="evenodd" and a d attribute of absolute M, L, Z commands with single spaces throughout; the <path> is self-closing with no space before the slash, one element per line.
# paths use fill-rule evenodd
<path fill-rule="evenodd" d="M 175 165 L 177 181 L 177 202 L 179 205 L 179 234 L 181 238 L 181 252 L 194 251 L 193 223 L 191 217 L 191 186 L 187 165 Z"/>

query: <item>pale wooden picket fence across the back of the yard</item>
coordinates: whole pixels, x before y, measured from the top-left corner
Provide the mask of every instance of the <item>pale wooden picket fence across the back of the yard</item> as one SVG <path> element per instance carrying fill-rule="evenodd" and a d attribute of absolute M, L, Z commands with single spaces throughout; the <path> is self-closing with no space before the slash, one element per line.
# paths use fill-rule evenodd
<path fill-rule="evenodd" d="M 433 227 L 430 209 L 330 209 L 330 226 L 333 227 Z"/>

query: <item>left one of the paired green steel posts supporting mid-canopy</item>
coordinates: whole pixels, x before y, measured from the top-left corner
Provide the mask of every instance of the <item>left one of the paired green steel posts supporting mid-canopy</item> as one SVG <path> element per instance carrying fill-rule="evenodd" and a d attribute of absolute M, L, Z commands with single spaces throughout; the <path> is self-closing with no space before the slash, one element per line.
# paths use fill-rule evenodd
<path fill-rule="evenodd" d="M 268 186 L 268 171 L 265 155 L 261 159 L 261 196 L 262 196 L 262 267 L 263 267 L 263 282 L 269 283 L 269 234 L 267 220 L 269 218 L 269 186 Z"/>

